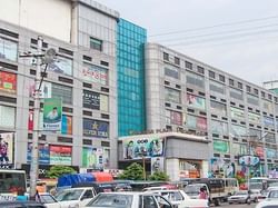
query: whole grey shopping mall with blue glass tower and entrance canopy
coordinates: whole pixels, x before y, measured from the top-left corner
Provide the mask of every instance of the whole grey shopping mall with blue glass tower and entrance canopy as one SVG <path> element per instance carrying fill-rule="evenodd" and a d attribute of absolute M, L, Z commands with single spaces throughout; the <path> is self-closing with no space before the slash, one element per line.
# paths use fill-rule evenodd
<path fill-rule="evenodd" d="M 147 157 L 148 170 L 155 156 L 163 157 L 162 169 L 173 168 L 173 179 L 232 176 L 241 170 L 238 157 L 249 149 L 260 157 L 254 174 L 266 175 L 278 162 L 277 95 L 146 43 L 146 29 L 96 1 L 19 2 L 0 7 L 0 133 L 9 146 L 9 161 L 1 167 L 28 169 L 31 160 L 36 59 L 19 56 L 36 53 L 38 36 L 44 51 L 54 48 L 59 55 L 41 96 L 62 98 L 61 131 L 40 129 L 43 170 L 53 165 L 117 168 L 118 160 L 121 168 L 141 160 L 126 157 L 123 139 L 136 143 L 153 136 L 166 143 L 160 142 L 163 155 Z M 51 16 L 37 17 L 48 10 Z"/>

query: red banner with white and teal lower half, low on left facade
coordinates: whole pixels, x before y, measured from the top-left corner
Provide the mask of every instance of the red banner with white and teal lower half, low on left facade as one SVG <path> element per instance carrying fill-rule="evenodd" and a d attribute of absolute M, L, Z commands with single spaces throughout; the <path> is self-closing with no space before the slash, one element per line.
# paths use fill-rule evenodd
<path fill-rule="evenodd" d="M 50 146 L 50 165 L 71 166 L 72 148 L 68 146 Z"/>

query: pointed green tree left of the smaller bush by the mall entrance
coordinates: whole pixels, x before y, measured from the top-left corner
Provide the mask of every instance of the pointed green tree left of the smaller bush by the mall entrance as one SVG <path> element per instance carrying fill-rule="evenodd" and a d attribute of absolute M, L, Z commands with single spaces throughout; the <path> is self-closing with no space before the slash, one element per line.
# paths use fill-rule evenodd
<path fill-rule="evenodd" d="M 129 180 L 143 180 L 143 169 L 142 166 L 133 162 L 127 167 L 126 170 L 119 176 L 120 179 Z"/>

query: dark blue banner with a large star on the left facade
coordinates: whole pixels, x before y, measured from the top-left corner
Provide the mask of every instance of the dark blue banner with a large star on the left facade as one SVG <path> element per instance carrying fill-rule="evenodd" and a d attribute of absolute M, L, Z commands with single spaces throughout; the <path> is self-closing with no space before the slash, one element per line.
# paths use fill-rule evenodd
<path fill-rule="evenodd" d="M 109 122 L 83 118 L 83 136 L 108 138 Z"/>

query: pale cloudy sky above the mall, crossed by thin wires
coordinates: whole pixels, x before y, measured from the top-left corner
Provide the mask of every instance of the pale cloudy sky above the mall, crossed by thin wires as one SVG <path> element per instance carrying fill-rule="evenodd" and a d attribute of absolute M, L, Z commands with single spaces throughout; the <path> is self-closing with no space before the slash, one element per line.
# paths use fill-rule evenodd
<path fill-rule="evenodd" d="M 97 0 L 148 41 L 256 85 L 278 80 L 277 0 Z"/>

